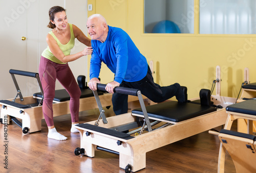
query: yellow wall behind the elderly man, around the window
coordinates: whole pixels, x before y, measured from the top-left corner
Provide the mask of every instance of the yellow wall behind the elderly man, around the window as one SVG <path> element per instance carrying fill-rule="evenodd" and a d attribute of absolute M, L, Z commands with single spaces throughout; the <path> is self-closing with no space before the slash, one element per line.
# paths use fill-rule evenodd
<path fill-rule="evenodd" d="M 199 34 L 199 0 L 195 0 L 194 34 L 144 34 L 143 0 L 88 0 L 110 26 L 125 30 L 148 61 L 154 61 L 155 82 L 165 86 L 175 82 L 188 88 L 188 98 L 199 97 L 201 88 L 211 89 L 216 66 L 221 66 L 221 95 L 237 97 L 244 81 L 244 68 L 256 82 L 256 35 Z M 102 83 L 113 80 L 105 68 Z M 215 94 L 215 91 L 214 91 Z"/>

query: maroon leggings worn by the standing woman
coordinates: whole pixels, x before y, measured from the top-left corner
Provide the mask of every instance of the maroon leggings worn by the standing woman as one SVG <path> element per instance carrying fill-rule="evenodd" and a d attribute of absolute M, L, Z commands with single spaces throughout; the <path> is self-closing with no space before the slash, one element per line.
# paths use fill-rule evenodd
<path fill-rule="evenodd" d="M 39 64 L 39 77 L 44 90 L 44 103 L 42 104 L 42 112 L 45 116 L 47 126 L 53 126 L 53 98 L 55 96 L 56 79 L 68 91 L 70 95 L 70 113 L 72 122 L 78 122 L 79 116 L 79 98 L 81 90 L 76 83 L 75 77 L 68 65 L 57 64 L 51 60 L 41 57 Z"/>

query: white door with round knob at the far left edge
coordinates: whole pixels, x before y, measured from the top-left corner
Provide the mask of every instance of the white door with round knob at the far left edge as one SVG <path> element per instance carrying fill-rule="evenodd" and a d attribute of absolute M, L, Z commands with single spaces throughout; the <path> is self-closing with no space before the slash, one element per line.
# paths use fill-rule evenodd
<path fill-rule="evenodd" d="M 0 13 L 2 23 L 0 100 L 3 100 L 16 95 L 9 70 L 27 69 L 27 40 L 22 40 L 22 37 L 27 37 L 27 13 L 19 0 L 1 0 Z M 18 77 L 17 80 L 19 81 L 20 78 Z M 26 82 L 20 82 L 19 87 L 20 90 L 26 91 Z"/>

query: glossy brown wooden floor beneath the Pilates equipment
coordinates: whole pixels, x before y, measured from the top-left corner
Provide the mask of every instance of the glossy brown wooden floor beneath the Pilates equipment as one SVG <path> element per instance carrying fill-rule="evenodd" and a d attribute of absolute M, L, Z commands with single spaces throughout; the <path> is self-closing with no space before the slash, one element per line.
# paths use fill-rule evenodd
<path fill-rule="evenodd" d="M 129 107 L 137 108 L 139 103 L 134 102 Z M 105 109 L 105 114 L 113 116 L 113 110 Z M 96 120 L 98 115 L 97 109 L 81 112 L 79 123 Z M 4 142 L 4 125 L 0 124 L 0 172 L 124 172 L 119 168 L 117 155 L 102 151 L 96 151 L 94 158 L 74 155 L 76 147 L 80 147 L 80 135 L 70 133 L 70 115 L 55 117 L 54 123 L 57 131 L 67 136 L 68 140 L 48 139 L 47 126 L 42 120 L 42 130 L 31 134 L 23 134 L 22 129 L 11 122 L 8 142 Z M 8 155 L 5 155 L 6 143 Z M 217 172 L 219 146 L 218 136 L 203 132 L 148 152 L 146 168 L 137 172 Z M 8 169 L 4 168 L 6 156 Z M 229 156 L 225 172 L 236 172 Z"/>

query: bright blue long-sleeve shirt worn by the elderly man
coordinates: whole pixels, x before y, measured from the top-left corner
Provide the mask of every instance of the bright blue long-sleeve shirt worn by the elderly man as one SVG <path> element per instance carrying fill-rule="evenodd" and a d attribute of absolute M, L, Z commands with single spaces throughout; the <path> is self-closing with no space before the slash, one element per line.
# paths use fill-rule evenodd
<path fill-rule="evenodd" d="M 146 58 L 125 31 L 108 27 L 108 37 L 103 43 L 92 40 L 90 79 L 99 77 L 103 62 L 115 73 L 114 81 L 118 83 L 140 81 L 147 73 Z"/>

